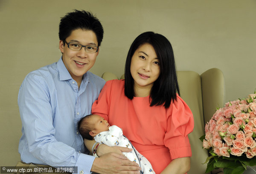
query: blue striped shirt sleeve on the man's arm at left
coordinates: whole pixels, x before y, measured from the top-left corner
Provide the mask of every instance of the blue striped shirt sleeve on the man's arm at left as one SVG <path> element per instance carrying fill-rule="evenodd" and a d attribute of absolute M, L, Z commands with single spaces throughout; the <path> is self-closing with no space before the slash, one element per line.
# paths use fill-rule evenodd
<path fill-rule="evenodd" d="M 26 77 L 18 95 L 20 117 L 29 151 L 48 165 L 78 166 L 78 170 L 89 174 L 95 157 L 79 154 L 74 148 L 55 139 L 49 89 L 42 77 L 37 78 Z"/>

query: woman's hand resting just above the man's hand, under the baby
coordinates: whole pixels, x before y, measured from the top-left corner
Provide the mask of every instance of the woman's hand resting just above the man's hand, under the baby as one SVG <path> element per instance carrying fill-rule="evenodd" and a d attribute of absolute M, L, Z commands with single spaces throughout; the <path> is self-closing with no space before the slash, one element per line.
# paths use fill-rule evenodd
<path fill-rule="evenodd" d="M 120 147 L 120 146 L 109 147 L 108 145 L 101 144 L 99 145 L 96 153 L 99 157 L 101 157 L 103 154 L 107 154 L 110 152 L 123 155 L 122 152 L 130 152 L 130 151 L 132 151 L 132 148 L 126 148 L 126 147 Z"/>

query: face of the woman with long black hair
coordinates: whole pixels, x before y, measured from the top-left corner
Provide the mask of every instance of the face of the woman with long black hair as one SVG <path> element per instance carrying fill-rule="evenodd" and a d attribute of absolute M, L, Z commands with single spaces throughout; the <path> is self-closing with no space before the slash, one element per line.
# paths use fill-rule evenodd
<path fill-rule="evenodd" d="M 134 52 L 130 70 L 135 89 L 152 88 L 160 75 L 160 62 L 151 44 L 145 43 Z"/>

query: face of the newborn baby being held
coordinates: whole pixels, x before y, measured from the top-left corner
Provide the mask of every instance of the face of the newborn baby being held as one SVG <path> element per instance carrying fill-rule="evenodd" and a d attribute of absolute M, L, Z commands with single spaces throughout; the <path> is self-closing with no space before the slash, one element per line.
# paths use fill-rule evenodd
<path fill-rule="evenodd" d="M 102 131 L 108 131 L 109 124 L 107 120 L 104 120 L 104 118 L 100 117 L 99 115 L 92 115 L 91 121 L 95 125 L 96 130 L 94 131 L 97 134 L 99 134 Z"/>

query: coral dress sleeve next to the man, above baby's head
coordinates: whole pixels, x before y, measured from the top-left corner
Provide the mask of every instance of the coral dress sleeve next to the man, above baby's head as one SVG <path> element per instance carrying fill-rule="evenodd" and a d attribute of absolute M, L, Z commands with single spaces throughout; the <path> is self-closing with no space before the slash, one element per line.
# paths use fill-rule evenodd
<path fill-rule="evenodd" d="M 109 104 L 111 100 L 111 87 L 113 80 L 109 80 L 105 83 L 102 91 L 99 94 L 98 100 L 93 103 L 92 114 L 97 114 L 108 121 Z"/>

